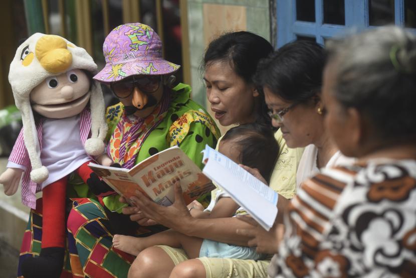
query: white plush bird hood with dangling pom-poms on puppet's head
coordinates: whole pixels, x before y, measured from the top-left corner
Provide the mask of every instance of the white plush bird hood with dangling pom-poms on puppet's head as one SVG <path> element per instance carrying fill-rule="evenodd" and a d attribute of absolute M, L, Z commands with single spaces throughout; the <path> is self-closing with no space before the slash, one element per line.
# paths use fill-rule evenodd
<path fill-rule="evenodd" d="M 35 120 L 30 102 L 31 91 L 46 78 L 73 69 L 83 69 L 95 74 L 97 65 L 87 51 L 55 35 L 36 33 L 22 43 L 10 64 L 9 82 L 12 85 L 16 106 L 22 113 L 24 141 L 32 165 L 31 179 L 41 183 L 49 172 L 41 162 Z M 97 81 L 91 86 L 91 137 L 85 144 L 89 155 L 104 152 L 107 133 L 105 104 L 101 86 Z"/>

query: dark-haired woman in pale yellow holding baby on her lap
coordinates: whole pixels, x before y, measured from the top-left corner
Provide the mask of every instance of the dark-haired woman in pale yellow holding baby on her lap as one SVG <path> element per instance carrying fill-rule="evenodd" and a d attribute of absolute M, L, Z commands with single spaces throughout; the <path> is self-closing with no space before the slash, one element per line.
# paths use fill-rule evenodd
<path fill-rule="evenodd" d="M 203 58 L 203 80 L 211 109 L 220 124 L 228 126 L 256 122 L 271 127 L 263 92 L 254 84 L 253 76 L 260 59 L 266 58 L 272 51 L 273 47 L 267 40 L 245 31 L 224 34 L 210 43 Z M 280 131 L 276 133 L 276 139 L 280 152 L 270 187 L 282 196 L 292 198 L 296 188 L 296 168 L 303 150 L 288 149 Z M 141 212 L 131 217 L 143 223 L 148 220 L 147 216 L 189 236 L 248 245 L 248 237 L 238 235 L 236 230 L 248 228 L 249 224 L 236 217 L 194 218 L 191 214 L 198 206 L 189 208 L 189 213 L 179 201 L 176 200 L 170 207 L 161 207 L 140 199 L 136 203 L 140 204 Z M 286 204 L 287 200 L 281 197 L 280 211 L 284 210 Z M 277 242 L 273 242 L 275 238 L 269 236 L 269 244 L 277 246 Z M 268 260 L 220 257 L 188 259 L 182 249 L 153 246 L 139 253 L 130 268 L 129 277 L 263 277 L 267 275 L 268 264 Z"/>

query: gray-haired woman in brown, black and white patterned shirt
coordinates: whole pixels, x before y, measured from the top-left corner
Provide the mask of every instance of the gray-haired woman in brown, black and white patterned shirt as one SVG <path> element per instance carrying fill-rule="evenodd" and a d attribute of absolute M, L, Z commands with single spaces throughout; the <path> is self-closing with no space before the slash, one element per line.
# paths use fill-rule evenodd
<path fill-rule="evenodd" d="M 272 277 L 416 273 L 416 37 L 382 27 L 329 41 L 325 124 L 358 161 L 292 200 Z"/>

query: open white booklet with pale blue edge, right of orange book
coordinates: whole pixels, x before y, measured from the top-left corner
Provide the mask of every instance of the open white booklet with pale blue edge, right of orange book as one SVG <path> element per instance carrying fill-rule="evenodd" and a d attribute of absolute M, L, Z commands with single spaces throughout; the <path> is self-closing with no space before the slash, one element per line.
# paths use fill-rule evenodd
<path fill-rule="evenodd" d="M 228 157 L 205 146 L 202 173 L 227 192 L 267 231 L 277 215 L 278 194 Z"/>

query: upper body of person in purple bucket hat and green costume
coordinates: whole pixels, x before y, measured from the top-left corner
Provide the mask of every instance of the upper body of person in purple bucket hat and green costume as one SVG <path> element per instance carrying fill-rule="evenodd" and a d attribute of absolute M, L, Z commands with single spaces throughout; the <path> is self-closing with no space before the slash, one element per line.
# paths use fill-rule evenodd
<path fill-rule="evenodd" d="M 106 65 L 93 78 L 110 87 L 120 100 L 107 107 L 107 154 L 111 159 L 131 169 L 160 151 L 178 146 L 202 168 L 201 151 L 205 144 L 217 144 L 220 130 L 190 99 L 189 85 L 173 86 L 173 74 L 180 66 L 162 57 L 162 42 L 156 32 L 141 23 L 120 25 L 104 40 L 103 54 Z M 113 194 L 102 200 L 113 232 L 143 235 L 142 231 L 159 231 L 158 227 L 141 229 L 129 215 L 123 215 L 127 204 L 119 197 Z M 204 206 L 209 204 L 207 197 L 209 194 L 199 198 Z"/>

